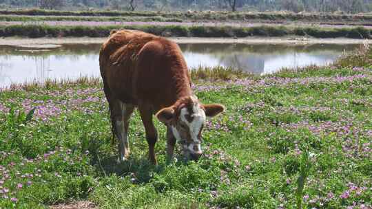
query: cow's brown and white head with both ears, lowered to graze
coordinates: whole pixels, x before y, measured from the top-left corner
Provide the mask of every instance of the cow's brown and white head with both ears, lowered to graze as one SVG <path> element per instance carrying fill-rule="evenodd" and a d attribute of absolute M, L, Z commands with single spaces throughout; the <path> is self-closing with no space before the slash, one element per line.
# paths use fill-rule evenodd
<path fill-rule="evenodd" d="M 183 148 L 183 155 L 198 159 L 203 153 L 200 144 L 206 117 L 212 118 L 223 111 L 225 107 L 221 104 L 201 104 L 196 96 L 189 96 L 161 109 L 156 117 L 172 128 L 174 137 Z"/>

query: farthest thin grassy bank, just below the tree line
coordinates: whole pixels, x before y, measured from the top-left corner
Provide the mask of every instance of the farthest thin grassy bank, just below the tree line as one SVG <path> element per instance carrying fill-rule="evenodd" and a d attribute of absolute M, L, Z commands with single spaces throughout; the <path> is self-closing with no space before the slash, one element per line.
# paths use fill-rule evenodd
<path fill-rule="evenodd" d="M 5 15 L 91 16 L 91 17 L 165 17 L 195 21 L 372 21 L 371 14 L 330 14 L 293 12 L 117 12 L 117 11 L 56 11 L 56 10 L 0 10 Z"/>

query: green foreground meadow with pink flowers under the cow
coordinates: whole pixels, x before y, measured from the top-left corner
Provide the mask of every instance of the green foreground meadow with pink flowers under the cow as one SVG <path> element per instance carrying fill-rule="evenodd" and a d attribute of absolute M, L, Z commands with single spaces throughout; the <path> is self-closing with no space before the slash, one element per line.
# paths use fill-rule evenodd
<path fill-rule="evenodd" d="M 227 112 L 207 122 L 198 162 L 166 164 L 156 121 L 159 165 L 150 165 L 135 112 L 132 156 L 117 164 L 99 79 L 3 90 L 0 208 L 371 207 L 372 52 L 363 50 L 351 67 L 345 56 L 337 67 L 232 80 L 200 69 L 196 95 Z"/>

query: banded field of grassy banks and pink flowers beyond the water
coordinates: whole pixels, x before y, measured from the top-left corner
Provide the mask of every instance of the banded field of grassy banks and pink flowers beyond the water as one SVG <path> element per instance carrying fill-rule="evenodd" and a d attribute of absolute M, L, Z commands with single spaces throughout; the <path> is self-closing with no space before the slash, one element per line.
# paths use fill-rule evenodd
<path fill-rule="evenodd" d="M 125 28 L 162 36 L 366 39 L 371 25 L 371 14 L 0 10 L 3 37 L 106 37 L 110 30 Z"/>

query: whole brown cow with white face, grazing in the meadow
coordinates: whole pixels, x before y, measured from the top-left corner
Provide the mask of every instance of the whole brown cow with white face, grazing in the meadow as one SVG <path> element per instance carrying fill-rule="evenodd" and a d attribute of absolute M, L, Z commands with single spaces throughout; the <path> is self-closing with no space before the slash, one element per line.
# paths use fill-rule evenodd
<path fill-rule="evenodd" d="M 205 116 L 214 117 L 225 107 L 201 104 L 194 96 L 185 59 L 176 43 L 140 31 L 114 31 L 103 43 L 99 62 L 122 161 L 130 154 L 127 133 L 134 107 L 138 107 L 145 126 L 152 163 L 156 164 L 154 113 L 167 125 L 169 159 L 176 141 L 182 144 L 185 157 L 198 159 Z"/>

